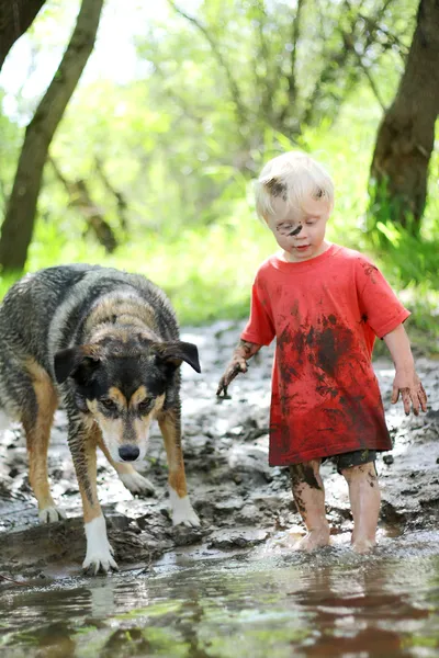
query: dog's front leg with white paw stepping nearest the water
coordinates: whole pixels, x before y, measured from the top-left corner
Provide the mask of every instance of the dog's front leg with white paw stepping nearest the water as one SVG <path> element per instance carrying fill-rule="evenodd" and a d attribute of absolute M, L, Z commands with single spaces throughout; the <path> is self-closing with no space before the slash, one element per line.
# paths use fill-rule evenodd
<path fill-rule="evenodd" d="M 102 514 L 97 491 L 97 426 L 86 426 L 79 418 L 69 418 L 69 446 L 82 498 L 87 554 L 83 569 L 98 574 L 99 570 L 117 569 L 113 548 L 106 536 L 105 519 Z"/>

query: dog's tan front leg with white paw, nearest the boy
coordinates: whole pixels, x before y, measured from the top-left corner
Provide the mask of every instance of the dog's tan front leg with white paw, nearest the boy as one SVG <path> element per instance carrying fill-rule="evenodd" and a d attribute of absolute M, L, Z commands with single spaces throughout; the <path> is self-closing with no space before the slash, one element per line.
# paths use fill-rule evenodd
<path fill-rule="evenodd" d="M 183 453 L 181 450 L 180 411 L 169 409 L 158 418 L 164 436 L 169 467 L 169 498 L 172 507 L 172 523 L 178 525 L 200 525 L 200 519 L 192 508 L 185 484 Z"/>

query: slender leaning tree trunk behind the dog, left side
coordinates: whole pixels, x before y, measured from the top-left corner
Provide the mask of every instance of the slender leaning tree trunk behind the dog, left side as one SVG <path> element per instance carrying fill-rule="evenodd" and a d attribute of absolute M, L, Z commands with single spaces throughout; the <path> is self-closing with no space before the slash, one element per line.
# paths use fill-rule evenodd
<path fill-rule="evenodd" d="M 93 49 L 102 4 L 103 0 L 82 0 L 70 43 L 26 128 L 1 230 L 0 265 L 3 271 L 22 270 L 26 262 L 48 148 Z"/>

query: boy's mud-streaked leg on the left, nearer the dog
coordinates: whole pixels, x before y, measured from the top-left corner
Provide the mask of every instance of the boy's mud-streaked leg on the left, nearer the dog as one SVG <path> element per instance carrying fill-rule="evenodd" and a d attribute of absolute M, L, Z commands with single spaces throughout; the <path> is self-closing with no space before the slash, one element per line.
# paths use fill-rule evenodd
<path fill-rule="evenodd" d="M 312 460 L 290 466 L 294 501 L 307 530 L 307 534 L 295 546 L 300 551 L 313 551 L 317 546 L 329 544 L 320 462 L 322 460 Z"/>

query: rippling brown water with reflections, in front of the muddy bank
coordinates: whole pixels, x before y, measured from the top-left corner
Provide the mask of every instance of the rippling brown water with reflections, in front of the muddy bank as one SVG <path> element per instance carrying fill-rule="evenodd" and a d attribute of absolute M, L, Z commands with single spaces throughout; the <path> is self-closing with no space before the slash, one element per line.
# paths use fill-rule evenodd
<path fill-rule="evenodd" d="M 346 658 L 439 656 L 438 532 L 373 556 L 179 551 L 148 575 L 8 587 L 0 655 Z"/>

